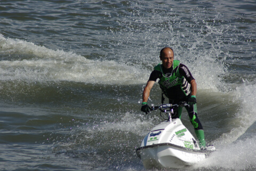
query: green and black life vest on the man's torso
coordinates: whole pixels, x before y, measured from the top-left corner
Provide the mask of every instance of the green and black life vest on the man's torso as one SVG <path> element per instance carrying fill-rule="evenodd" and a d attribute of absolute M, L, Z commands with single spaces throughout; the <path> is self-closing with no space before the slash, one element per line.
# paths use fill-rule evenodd
<path fill-rule="evenodd" d="M 175 101 L 184 100 L 190 93 L 190 84 L 184 76 L 179 74 L 179 60 L 173 60 L 173 70 L 169 75 L 163 72 L 163 64 L 159 63 L 154 70 L 160 71 L 158 84 L 168 99 Z"/>

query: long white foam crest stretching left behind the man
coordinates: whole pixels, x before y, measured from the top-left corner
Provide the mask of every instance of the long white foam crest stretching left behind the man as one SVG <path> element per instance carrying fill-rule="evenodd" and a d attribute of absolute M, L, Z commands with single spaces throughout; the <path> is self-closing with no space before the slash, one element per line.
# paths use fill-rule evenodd
<path fill-rule="evenodd" d="M 1 80 L 64 80 L 86 84 L 130 85 L 146 83 L 148 79 L 148 71 L 138 66 L 116 61 L 90 60 L 73 52 L 54 51 L 20 39 L 6 39 L 3 35 L 0 35 L 0 46 L 2 52 L 10 56 L 35 56 L 23 60 L 0 61 Z"/>

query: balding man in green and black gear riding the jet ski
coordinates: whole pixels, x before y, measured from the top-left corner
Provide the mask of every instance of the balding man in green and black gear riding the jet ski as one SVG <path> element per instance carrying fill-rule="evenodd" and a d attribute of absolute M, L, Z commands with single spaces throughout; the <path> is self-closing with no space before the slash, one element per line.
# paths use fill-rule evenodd
<path fill-rule="evenodd" d="M 179 60 L 174 60 L 172 48 L 164 47 L 159 57 L 162 64 L 157 64 L 154 71 L 150 74 L 147 85 L 143 90 L 141 111 L 146 114 L 150 112 L 150 107 L 147 103 L 148 97 L 154 83 L 159 79 L 158 84 L 162 89 L 162 104 L 164 102 L 163 94 L 169 99 L 169 103 L 172 104 L 179 103 L 180 101 L 188 102 L 189 105 L 185 106 L 185 108 L 188 111 L 191 124 L 195 128 L 199 147 L 202 150 L 206 149 L 203 126 L 197 116 L 195 78 L 191 75 L 187 66 L 180 63 Z M 182 107 L 179 106 L 174 112 L 174 117 L 172 118 L 181 118 Z"/>

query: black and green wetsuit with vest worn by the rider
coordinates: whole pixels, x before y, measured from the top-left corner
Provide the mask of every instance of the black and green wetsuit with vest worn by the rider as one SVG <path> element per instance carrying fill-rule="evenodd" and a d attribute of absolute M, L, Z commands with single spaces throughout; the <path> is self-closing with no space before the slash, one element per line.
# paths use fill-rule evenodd
<path fill-rule="evenodd" d="M 158 84 L 162 89 L 164 95 L 169 99 L 169 103 L 178 103 L 180 101 L 187 101 L 191 96 L 190 82 L 194 80 L 189 69 L 179 60 L 173 61 L 173 66 L 170 69 L 165 69 L 163 64 L 155 66 L 154 71 L 151 72 L 149 80 L 159 79 Z M 189 105 L 185 107 L 188 111 L 188 116 L 191 124 L 195 128 L 201 146 L 205 146 L 203 126 L 197 117 L 197 105 Z M 182 107 L 174 111 L 172 118 L 181 118 Z"/>

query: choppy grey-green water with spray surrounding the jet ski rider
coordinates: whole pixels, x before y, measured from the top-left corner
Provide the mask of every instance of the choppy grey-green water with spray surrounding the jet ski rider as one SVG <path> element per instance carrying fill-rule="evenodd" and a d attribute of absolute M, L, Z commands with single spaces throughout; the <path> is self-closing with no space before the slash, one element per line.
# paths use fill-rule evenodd
<path fill-rule="evenodd" d="M 1 170 L 145 170 L 135 149 L 161 119 L 140 112 L 142 90 L 165 46 L 196 78 L 218 149 L 181 170 L 256 169 L 254 1 L 2 0 L 0 10 Z M 186 111 L 182 122 L 192 129 Z"/>

